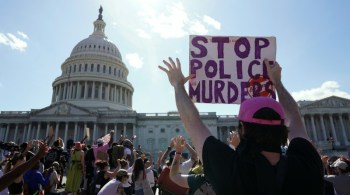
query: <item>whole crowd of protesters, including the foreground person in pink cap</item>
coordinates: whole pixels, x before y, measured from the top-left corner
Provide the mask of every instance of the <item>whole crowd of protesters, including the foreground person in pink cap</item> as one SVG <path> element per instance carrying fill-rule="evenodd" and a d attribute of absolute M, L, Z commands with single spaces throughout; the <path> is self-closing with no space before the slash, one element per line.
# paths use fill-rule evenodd
<path fill-rule="evenodd" d="M 227 143 L 201 120 L 184 84 L 181 64 L 163 61 L 176 105 L 193 146 L 182 135 L 153 156 L 134 138 L 113 140 L 114 131 L 65 146 L 58 138 L 2 143 L 2 194 L 350 194 L 350 161 L 321 156 L 308 137 L 298 105 L 281 81 L 280 65 L 264 61 L 279 102 L 253 97 L 241 103 L 238 131 Z M 6 147 L 5 147 L 6 146 Z M 186 156 L 185 150 L 190 154 Z M 63 176 L 66 175 L 66 183 Z"/>

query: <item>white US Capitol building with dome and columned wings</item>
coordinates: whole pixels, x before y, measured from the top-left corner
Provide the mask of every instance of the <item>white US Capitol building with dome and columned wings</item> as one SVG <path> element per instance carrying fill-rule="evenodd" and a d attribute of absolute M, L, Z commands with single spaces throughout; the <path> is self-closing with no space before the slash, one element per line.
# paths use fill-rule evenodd
<path fill-rule="evenodd" d="M 51 105 L 31 111 L 1 111 L 0 140 L 22 143 L 43 139 L 52 127 L 55 138 L 78 141 L 89 128 L 91 144 L 114 129 L 114 140 L 120 135 L 136 135 L 134 145 L 140 144 L 154 157 L 178 134 L 190 142 L 177 112 L 137 113 L 132 109 L 134 88 L 127 80 L 129 70 L 117 46 L 105 35 L 102 8 L 93 24 L 93 33 L 80 41 L 61 65 L 62 74 L 52 83 Z M 331 96 L 298 103 L 314 144 L 323 153 L 349 156 L 350 100 Z M 238 126 L 235 115 L 200 114 L 211 133 L 224 142 Z"/>

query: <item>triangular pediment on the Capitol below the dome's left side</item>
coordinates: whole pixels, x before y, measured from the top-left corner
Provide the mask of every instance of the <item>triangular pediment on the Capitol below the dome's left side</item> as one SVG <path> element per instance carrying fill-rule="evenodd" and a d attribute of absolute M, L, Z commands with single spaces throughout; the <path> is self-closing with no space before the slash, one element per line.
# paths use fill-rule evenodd
<path fill-rule="evenodd" d="M 60 102 L 46 108 L 32 112 L 34 116 L 90 116 L 92 113 L 85 109 L 67 102 Z"/>

